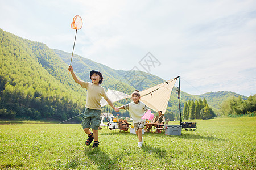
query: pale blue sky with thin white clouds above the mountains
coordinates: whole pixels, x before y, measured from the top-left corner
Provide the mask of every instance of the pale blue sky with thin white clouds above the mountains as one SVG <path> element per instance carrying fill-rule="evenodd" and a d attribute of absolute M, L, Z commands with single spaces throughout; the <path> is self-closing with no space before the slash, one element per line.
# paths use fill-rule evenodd
<path fill-rule="evenodd" d="M 189 94 L 256 94 L 256 1 L 0 2 L 1 29 L 49 48 L 72 53 L 70 25 L 80 15 L 75 54 L 164 80 L 180 76 Z M 145 70 L 148 52 L 158 62 Z"/>

